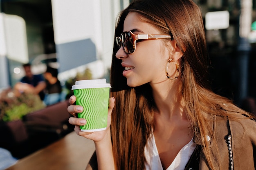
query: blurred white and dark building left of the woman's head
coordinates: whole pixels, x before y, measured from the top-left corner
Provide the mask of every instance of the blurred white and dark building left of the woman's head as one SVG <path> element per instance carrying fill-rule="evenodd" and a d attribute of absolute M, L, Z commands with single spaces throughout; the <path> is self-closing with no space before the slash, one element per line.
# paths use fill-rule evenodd
<path fill-rule="evenodd" d="M 62 81 L 90 68 L 106 75 L 112 60 L 115 19 L 129 0 L 0 0 L 0 88 L 13 86 L 31 62 L 46 63 Z"/>

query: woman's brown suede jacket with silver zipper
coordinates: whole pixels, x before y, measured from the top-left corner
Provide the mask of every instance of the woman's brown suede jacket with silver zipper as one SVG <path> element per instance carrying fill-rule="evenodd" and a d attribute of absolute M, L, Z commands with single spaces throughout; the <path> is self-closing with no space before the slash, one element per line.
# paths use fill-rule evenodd
<path fill-rule="evenodd" d="M 241 115 L 243 117 L 243 115 Z M 210 124 L 213 135 L 210 137 L 211 158 L 217 170 L 256 170 L 256 121 L 240 119 L 232 121 L 224 117 L 211 115 Z M 210 135 L 209 135 L 210 136 Z M 216 144 L 211 140 L 216 138 Z M 192 154 L 185 170 L 211 170 L 201 150 L 197 148 Z M 217 147 L 216 147 L 217 146 Z M 218 156 L 219 154 L 219 156 Z"/>

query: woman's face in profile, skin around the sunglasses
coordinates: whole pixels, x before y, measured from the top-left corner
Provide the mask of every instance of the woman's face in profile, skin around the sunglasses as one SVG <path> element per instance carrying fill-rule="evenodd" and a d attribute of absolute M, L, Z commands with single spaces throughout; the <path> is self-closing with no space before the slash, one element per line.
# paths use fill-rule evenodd
<path fill-rule="evenodd" d="M 140 19 L 136 12 L 128 13 L 124 20 L 124 31 L 134 34 L 162 34 L 156 27 Z M 126 54 L 121 47 L 116 57 L 122 60 L 123 75 L 130 87 L 150 83 L 156 84 L 167 79 L 165 66 L 169 58 L 164 40 L 142 40 L 136 42 L 136 50 Z"/>

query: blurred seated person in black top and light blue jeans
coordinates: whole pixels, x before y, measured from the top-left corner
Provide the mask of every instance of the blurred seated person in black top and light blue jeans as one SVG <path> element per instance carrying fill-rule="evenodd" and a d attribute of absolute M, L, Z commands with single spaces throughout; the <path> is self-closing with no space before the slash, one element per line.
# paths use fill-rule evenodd
<path fill-rule="evenodd" d="M 58 80 L 58 70 L 56 68 L 47 66 L 44 77 L 46 82 L 44 103 L 48 106 L 61 102 L 62 86 Z"/>

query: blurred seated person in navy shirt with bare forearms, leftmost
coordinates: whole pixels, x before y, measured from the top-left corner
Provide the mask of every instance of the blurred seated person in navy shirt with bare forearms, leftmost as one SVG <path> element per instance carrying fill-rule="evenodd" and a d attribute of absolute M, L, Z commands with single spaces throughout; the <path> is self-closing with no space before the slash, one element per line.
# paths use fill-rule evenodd
<path fill-rule="evenodd" d="M 43 90 L 46 87 L 44 78 L 42 75 L 33 75 L 31 72 L 31 64 L 22 65 L 25 70 L 25 76 L 20 79 L 20 82 L 15 84 L 14 89 L 19 95 L 20 93 L 34 93 L 40 96 L 43 100 L 45 95 Z"/>

